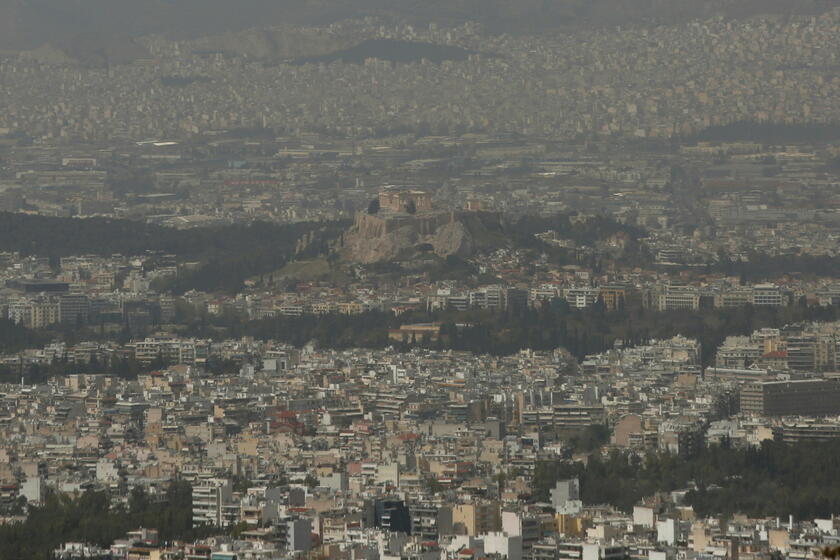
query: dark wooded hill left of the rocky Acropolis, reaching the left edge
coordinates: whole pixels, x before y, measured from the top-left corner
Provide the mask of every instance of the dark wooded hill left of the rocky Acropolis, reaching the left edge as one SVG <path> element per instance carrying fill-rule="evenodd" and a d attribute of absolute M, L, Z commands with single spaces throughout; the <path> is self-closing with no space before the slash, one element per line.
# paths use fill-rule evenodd
<path fill-rule="evenodd" d="M 346 226 L 253 222 L 176 230 L 130 220 L 0 212 L 0 251 L 45 256 L 53 264 L 70 255 L 168 253 L 197 264 L 157 286 L 161 291 L 236 293 L 247 279 L 282 268 L 295 255 L 322 254 Z"/>

